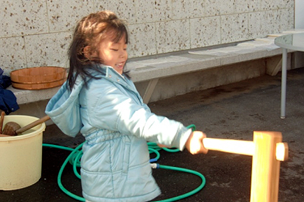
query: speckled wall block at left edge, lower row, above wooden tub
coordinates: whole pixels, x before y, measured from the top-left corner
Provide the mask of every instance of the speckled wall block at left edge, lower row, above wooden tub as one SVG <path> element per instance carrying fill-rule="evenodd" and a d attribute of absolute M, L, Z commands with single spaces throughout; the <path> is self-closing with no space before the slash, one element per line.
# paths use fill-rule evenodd
<path fill-rule="evenodd" d="M 20 37 L 0 38 L 0 61 L 4 75 L 10 71 L 27 68 L 24 39 Z"/>

